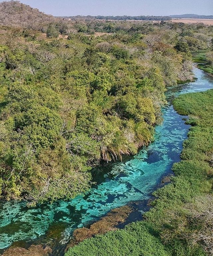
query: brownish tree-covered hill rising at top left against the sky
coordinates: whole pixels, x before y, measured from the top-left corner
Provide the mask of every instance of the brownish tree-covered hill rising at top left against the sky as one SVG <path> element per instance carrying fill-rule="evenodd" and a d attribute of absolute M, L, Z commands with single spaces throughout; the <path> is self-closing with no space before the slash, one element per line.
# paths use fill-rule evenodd
<path fill-rule="evenodd" d="M 54 21 L 57 21 L 56 17 L 19 1 L 0 3 L 0 25 L 41 29 L 44 24 Z"/>

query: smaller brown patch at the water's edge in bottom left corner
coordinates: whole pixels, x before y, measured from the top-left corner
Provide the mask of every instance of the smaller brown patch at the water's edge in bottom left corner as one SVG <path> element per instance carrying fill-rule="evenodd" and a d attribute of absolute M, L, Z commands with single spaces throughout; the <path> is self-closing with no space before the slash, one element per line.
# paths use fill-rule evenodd
<path fill-rule="evenodd" d="M 31 245 L 28 250 L 21 247 L 9 248 L 2 256 L 48 256 L 50 253 L 52 250 L 48 246 Z"/>

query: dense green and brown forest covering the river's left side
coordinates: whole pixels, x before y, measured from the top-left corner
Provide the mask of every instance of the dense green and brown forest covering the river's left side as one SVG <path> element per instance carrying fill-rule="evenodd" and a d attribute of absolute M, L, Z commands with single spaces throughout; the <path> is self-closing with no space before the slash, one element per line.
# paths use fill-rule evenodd
<path fill-rule="evenodd" d="M 104 35 L 88 35 L 100 24 Z M 212 47 L 212 27 L 202 24 L 85 20 L 58 38 L 59 25 L 68 33 L 66 23 L 50 23 L 46 34 L 1 27 L 0 184 L 8 200 L 88 190 L 93 166 L 152 141 L 166 87 L 193 79 L 190 50 Z"/>

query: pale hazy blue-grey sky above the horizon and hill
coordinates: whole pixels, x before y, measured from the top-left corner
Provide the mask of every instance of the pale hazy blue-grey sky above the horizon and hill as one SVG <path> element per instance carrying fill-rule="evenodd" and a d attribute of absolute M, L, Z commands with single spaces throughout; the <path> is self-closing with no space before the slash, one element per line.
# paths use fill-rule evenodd
<path fill-rule="evenodd" d="M 213 0 L 21 0 L 21 2 L 55 16 L 213 14 Z"/>

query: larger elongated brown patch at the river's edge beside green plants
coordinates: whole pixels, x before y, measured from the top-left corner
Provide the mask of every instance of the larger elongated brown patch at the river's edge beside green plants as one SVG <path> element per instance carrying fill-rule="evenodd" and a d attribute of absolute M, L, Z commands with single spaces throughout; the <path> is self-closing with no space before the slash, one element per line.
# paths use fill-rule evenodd
<path fill-rule="evenodd" d="M 73 239 L 68 244 L 66 251 L 87 238 L 97 234 L 105 234 L 110 230 L 116 230 L 119 223 L 123 223 L 128 215 L 132 212 L 129 206 L 123 206 L 111 210 L 107 216 L 92 224 L 89 228 L 78 228 L 73 233 Z"/>

